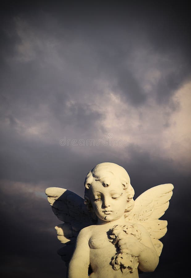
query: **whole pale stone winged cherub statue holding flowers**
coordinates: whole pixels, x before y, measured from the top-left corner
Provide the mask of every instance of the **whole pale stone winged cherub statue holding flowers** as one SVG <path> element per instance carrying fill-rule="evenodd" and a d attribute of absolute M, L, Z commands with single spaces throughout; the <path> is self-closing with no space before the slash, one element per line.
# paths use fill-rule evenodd
<path fill-rule="evenodd" d="M 63 224 L 58 254 L 68 278 L 138 278 L 158 265 L 167 232 L 159 220 L 169 205 L 173 185 L 148 189 L 135 201 L 127 171 L 114 163 L 95 166 L 85 178 L 84 200 L 58 187 L 46 189 L 48 202 Z"/>

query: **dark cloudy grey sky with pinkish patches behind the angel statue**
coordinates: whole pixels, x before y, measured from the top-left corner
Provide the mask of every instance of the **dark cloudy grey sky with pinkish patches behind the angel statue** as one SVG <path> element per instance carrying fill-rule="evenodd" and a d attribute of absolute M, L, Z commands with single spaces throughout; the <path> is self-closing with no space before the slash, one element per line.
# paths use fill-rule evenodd
<path fill-rule="evenodd" d="M 135 198 L 152 186 L 174 184 L 162 218 L 168 233 L 160 264 L 140 277 L 184 271 L 189 8 L 187 1 L 132 2 L 6 1 L 2 8 L 2 277 L 65 277 L 56 253 L 60 221 L 44 190 L 64 187 L 83 197 L 87 172 L 107 161 L 127 170 Z"/>

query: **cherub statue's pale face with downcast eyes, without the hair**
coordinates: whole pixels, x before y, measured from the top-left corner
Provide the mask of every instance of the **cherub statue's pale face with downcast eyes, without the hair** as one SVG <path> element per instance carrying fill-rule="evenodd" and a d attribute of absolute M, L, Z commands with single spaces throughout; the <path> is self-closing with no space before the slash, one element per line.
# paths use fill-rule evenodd
<path fill-rule="evenodd" d="M 109 187 L 94 180 L 89 187 L 90 201 L 97 217 L 103 221 L 114 221 L 123 217 L 127 195 L 119 179 L 112 179 Z"/>

